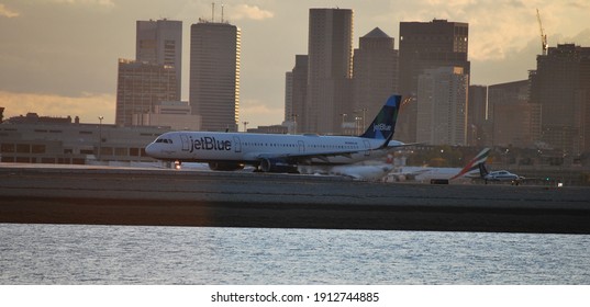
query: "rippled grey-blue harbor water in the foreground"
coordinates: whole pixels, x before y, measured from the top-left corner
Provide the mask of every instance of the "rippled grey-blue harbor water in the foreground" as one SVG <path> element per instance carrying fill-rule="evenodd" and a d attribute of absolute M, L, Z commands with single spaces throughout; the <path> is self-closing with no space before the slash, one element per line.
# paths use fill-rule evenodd
<path fill-rule="evenodd" d="M 0 284 L 590 284 L 590 236 L 0 224 Z"/>

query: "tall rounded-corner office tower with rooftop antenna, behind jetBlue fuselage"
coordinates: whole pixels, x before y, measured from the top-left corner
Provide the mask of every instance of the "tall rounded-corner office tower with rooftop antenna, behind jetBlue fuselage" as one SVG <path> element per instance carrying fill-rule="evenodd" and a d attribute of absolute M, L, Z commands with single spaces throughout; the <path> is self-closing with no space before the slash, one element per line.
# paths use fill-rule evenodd
<path fill-rule="evenodd" d="M 191 25 L 189 102 L 203 130 L 237 130 L 240 53 L 237 26 L 202 20 Z"/>

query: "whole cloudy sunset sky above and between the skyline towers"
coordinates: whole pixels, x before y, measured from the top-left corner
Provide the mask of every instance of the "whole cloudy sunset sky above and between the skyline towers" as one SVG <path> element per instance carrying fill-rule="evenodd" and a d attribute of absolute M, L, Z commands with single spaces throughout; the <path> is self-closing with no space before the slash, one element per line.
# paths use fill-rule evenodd
<path fill-rule="evenodd" d="M 182 21 L 182 94 L 188 101 L 190 25 L 211 19 L 212 0 L 0 0 L 0 106 L 4 118 L 36 112 L 114 123 L 118 59 L 135 58 L 135 22 Z M 242 30 L 240 123 L 280 124 L 285 73 L 308 50 L 310 8 L 354 11 L 354 47 L 375 27 L 398 48 L 400 22 L 469 23 L 471 84 L 524 80 L 541 54 L 541 12 L 549 47 L 590 46 L 588 0 L 225 0 Z M 403 78 L 403 76 L 401 76 Z M 240 125 L 242 128 L 242 124 Z"/>

